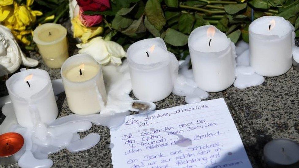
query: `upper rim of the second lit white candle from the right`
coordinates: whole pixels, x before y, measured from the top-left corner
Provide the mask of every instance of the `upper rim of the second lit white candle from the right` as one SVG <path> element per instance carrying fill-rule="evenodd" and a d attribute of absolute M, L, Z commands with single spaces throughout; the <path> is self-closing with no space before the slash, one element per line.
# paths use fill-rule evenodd
<path fill-rule="evenodd" d="M 209 28 L 209 27 L 214 27 L 214 29 L 215 29 L 215 31 L 217 32 L 217 33 L 220 33 L 220 34 L 222 34 L 223 36 L 225 36 L 226 38 L 227 38 L 227 43 L 226 43 L 226 45 L 227 46 L 225 46 L 224 47 L 224 49 L 223 50 L 219 50 L 219 51 L 210 51 L 210 52 L 205 52 L 205 51 L 201 51 L 201 50 L 197 50 L 197 49 L 195 49 L 195 47 L 194 47 L 194 34 L 195 33 L 197 33 L 197 32 L 199 32 L 199 31 L 202 31 L 202 29 L 207 29 L 207 28 Z M 200 37 L 199 37 L 200 38 Z M 189 47 L 189 50 L 195 50 L 195 51 L 197 51 L 197 52 L 202 52 L 202 53 L 221 53 L 221 52 L 225 52 L 231 45 L 231 40 L 225 35 L 225 33 L 223 33 L 223 32 L 221 32 L 220 30 L 218 30 L 215 26 L 213 26 L 213 25 L 204 25 L 204 26 L 200 26 L 200 27 L 198 27 L 198 28 L 195 28 L 191 33 L 190 33 L 190 35 L 189 35 L 189 37 L 188 37 L 188 47 Z"/>

